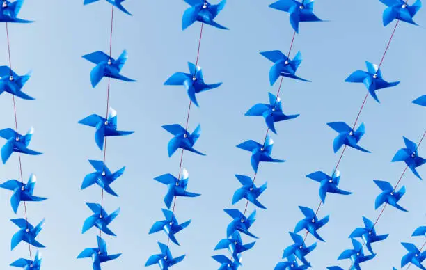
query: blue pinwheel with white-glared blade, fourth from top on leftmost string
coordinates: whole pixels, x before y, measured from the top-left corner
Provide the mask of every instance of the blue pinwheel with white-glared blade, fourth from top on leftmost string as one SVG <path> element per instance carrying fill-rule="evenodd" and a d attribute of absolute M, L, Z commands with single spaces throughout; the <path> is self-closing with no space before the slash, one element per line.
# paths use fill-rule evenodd
<path fill-rule="evenodd" d="M 0 188 L 13 191 L 13 195 L 10 197 L 10 205 L 12 205 L 15 214 L 21 202 L 41 202 L 42 200 L 47 200 L 47 198 L 33 196 L 36 181 L 36 175 L 31 174 L 26 184 L 17 180 L 8 180 L 0 184 Z"/>

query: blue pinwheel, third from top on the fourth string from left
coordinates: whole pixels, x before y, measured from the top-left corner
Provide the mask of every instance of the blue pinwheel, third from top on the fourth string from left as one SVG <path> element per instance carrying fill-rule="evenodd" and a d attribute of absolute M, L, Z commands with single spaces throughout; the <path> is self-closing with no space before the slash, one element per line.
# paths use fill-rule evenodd
<path fill-rule="evenodd" d="M 263 116 L 267 127 L 271 129 L 272 132 L 276 134 L 275 122 L 280 122 L 283 120 L 290 120 L 297 118 L 299 114 L 294 115 L 285 115 L 283 113 L 283 106 L 281 105 L 281 98 L 276 97 L 276 95 L 269 93 L 269 104 L 258 103 L 255 104 L 251 109 L 249 109 L 246 116 Z"/>

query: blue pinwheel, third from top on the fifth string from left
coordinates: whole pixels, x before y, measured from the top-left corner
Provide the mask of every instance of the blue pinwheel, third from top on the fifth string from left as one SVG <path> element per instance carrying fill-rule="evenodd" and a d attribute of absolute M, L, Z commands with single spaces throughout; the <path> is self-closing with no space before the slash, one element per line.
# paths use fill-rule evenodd
<path fill-rule="evenodd" d="M 362 152 L 370 153 L 370 151 L 358 145 L 358 142 L 365 134 L 364 124 L 361 124 L 356 131 L 345 122 L 329 122 L 327 125 L 339 134 L 333 141 L 333 150 L 335 153 L 338 152 L 342 145 L 347 145 Z"/>

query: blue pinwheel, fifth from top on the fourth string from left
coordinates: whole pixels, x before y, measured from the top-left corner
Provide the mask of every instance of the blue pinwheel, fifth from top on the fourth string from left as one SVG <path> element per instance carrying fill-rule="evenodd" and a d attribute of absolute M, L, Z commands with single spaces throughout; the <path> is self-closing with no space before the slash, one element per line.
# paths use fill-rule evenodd
<path fill-rule="evenodd" d="M 235 175 L 235 177 L 237 177 L 237 180 L 243 186 L 235 191 L 234 196 L 232 197 L 232 205 L 235 205 L 235 203 L 242 200 L 242 198 L 246 198 L 246 200 L 253 203 L 253 205 L 262 209 L 267 209 L 258 201 L 258 197 L 263 193 L 263 191 L 265 191 L 265 189 L 267 189 L 268 183 L 265 182 L 262 186 L 257 187 L 253 183 L 253 180 L 246 175 Z"/>

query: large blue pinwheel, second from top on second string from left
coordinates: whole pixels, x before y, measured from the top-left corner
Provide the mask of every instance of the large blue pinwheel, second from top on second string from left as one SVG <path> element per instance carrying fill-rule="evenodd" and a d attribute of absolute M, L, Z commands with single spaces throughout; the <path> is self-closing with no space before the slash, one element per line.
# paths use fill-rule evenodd
<path fill-rule="evenodd" d="M 95 88 L 103 77 L 119 79 L 121 81 L 135 81 L 120 74 L 123 65 L 127 61 L 127 51 L 124 50 L 118 59 L 114 59 L 103 51 L 95 51 L 83 56 L 84 59 L 94 63 L 96 66 L 90 72 L 90 81 Z"/>

